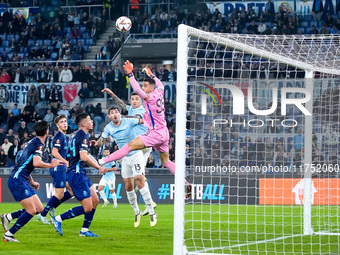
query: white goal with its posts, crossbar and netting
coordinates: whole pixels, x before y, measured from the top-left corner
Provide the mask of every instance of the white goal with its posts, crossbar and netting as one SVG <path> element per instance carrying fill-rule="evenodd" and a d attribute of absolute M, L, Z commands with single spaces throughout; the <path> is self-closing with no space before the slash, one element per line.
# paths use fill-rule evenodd
<path fill-rule="evenodd" d="M 340 252 L 339 42 L 180 25 L 174 254 Z"/>

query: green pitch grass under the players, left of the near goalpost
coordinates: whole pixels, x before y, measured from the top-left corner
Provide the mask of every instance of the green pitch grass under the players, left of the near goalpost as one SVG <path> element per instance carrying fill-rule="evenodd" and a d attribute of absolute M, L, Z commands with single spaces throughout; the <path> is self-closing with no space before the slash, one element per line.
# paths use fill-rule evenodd
<path fill-rule="evenodd" d="M 63 204 L 62 213 L 79 204 Z M 134 212 L 129 204 L 112 204 L 101 208 L 99 204 L 90 230 L 98 238 L 80 237 L 84 217 L 63 222 L 64 236 L 59 236 L 52 225 L 43 225 L 34 217 L 15 237 L 20 243 L 0 242 L 0 254 L 6 255 L 84 255 L 84 254 L 172 254 L 173 205 L 158 205 L 158 223 L 150 227 L 150 217 L 143 217 L 134 228 Z M 144 206 L 140 205 L 144 210 Z M 18 203 L 0 203 L 0 213 L 21 209 Z M 49 216 L 48 216 L 49 218 Z M 1 237 L 3 229 L 0 229 Z M 1 239 L 2 240 L 2 239 Z"/>

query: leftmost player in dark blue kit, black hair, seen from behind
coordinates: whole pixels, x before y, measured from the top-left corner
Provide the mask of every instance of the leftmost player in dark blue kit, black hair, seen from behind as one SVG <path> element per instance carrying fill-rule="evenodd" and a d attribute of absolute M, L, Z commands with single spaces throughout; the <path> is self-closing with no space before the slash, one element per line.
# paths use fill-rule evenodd
<path fill-rule="evenodd" d="M 5 242 L 19 242 L 14 237 L 14 234 L 29 222 L 36 213 L 43 210 L 41 201 L 35 193 L 40 185 L 31 176 L 34 168 L 51 168 L 61 164 L 57 159 L 53 159 L 52 163 L 44 163 L 42 161 L 49 128 L 48 123 L 46 121 L 39 121 L 33 128 L 37 136 L 26 144 L 18 164 L 14 167 L 8 179 L 8 187 L 15 201 L 20 202 L 24 209 L 1 215 L 2 226 L 6 231 L 2 240 Z M 18 218 L 17 222 L 9 229 L 11 220 L 15 218 Z"/>

